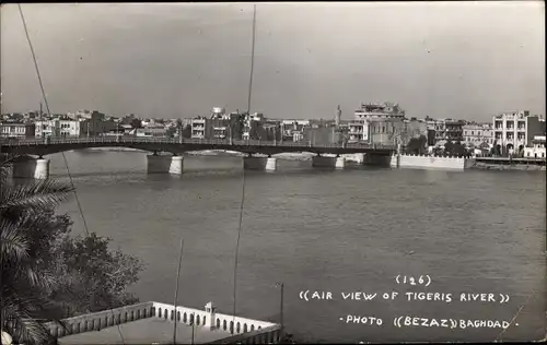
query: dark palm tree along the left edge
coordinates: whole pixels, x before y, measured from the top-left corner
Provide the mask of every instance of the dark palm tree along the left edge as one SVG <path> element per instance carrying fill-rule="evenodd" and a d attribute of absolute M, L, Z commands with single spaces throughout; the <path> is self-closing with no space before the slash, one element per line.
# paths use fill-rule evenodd
<path fill-rule="evenodd" d="M 51 271 L 40 265 L 49 246 L 44 212 L 72 189 L 51 180 L 10 182 L 14 158 L 0 157 L 1 329 L 14 343 L 47 344 L 54 338 L 39 320 L 59 321 L 61 313 L 44 298 L 55 283 Z"/>

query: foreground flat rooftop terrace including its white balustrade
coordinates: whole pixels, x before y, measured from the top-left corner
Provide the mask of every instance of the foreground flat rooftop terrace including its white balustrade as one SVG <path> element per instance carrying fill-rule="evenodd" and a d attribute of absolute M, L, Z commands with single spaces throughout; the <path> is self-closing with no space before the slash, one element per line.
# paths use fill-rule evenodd
<path fill-rule="evenodd" d="M 46 323 L 59 345 L 73 344 L 278 344 L 280 324 L 218 312 L 142 302 Z M 176 322 L 176 328 L 175 328 Z M 125 341 L 124 341 L 125 340 Z"/>

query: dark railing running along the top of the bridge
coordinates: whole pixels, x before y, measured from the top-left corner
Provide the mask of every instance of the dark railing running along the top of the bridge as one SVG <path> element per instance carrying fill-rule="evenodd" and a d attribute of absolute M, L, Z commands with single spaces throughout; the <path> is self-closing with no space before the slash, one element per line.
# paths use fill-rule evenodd
<path fill-rule="evenodd" d="M 230 139 L 179 139 L 179 138 L 139 138 L 139 136 L 47 136 L 47 138 L 18 138 L 1 140 L 2 145 L 55 145 L 55 144 L 194 144 L 194 145 L 232 145 L 232 146 L 281 146 L 281 147 L 316 147 L 316 148 L 379 148 L 393 150 L 393 145 L 368 143 L 331 143 L 314 144 L 312 142 L 261 141 L 261 140 L 230 140 Z"/>

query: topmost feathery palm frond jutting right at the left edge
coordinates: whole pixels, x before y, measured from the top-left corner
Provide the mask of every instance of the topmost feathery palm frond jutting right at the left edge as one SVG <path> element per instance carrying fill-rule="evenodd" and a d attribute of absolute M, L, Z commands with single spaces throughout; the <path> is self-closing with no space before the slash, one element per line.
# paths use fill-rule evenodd
<path fill-rule="evenodd" d="M 0 195 L 0 212 L 10 209 L 50 209 L 65 201 L 71 191 L 73 188 L 70 185 L 54 180 L 11 186 L 4 189 Z"/>

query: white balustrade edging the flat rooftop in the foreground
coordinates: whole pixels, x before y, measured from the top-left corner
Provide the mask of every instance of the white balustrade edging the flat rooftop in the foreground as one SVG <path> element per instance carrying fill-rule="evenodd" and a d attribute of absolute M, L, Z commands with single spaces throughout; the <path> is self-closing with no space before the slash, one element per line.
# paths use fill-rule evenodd
<path fill-rule="evenodd" d="M 212 304 L 208 304 L 212 306 Z M 206 306 L 207 308 L 207 306 Z M 128 323 L 147 318 L 159 318 L 195 326 L 209 328 L 219 332 L 225 332 L 226 337 L 237 336 L 241 340 L 264 338 L 264 344 L 271 341 L 279 341 L 280 325 L 271 322 L 253 320 L 241 317 L 233 317 L 217 313 L 214 309 L 200 310 L 187 307 L 176 307 L 173 305 L 154 301 L 126 306 L 116 309 L 103 310 L 100 312 L 83 314 L 62 320 L 63 325 L 49 322 L 46 326 L 51 335 L 56 337 L 68 336 L 91 331 Z M 233 331 L 233 332 L 232 332 Z M 244 334 L 246 333 L 246 334 Z M 221 340 L 219 342 L 224 342 Z M 259 344 L 253 342 L 253 344 Z"/>

